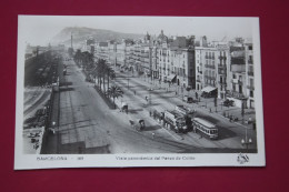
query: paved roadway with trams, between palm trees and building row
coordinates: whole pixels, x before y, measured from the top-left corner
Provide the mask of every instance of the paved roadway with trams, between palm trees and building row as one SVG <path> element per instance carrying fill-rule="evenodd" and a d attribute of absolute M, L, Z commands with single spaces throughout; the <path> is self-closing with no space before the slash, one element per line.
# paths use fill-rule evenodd
<path fill-rule="evenodd" d="M 199 135 L 192 132 L 187 134 L 182 134 L 181 137 L 185 139 L 182 142 L 201 145 L 206 148 L 243 148 L 241 145 L 241 139 L 245 138 L 246 127 L 237 123 L 229 122 L 228 119 L 221 117 L 220 114 L 210 113 L 208 109 L 199 108 L 197 104 L 188 104 L 181 101 L 180 98 L 176 97 L 175 91 L 169 91 L 165 89 L 158 89 L 158 87 L 151 85 L 148 80 L 144 81 L 143 78 L 131 77 L 131 74 L 118 73 L 119 78 L 116 80 L 116 84 L 120 85 L 124 90 L 124 98 L 122 101 L 132 102 L 131 108 L 143 108 L 146 111 L 143 115 L 149 115 L 149 111 L 158 110 L 165 111 L 173 110 L 176 105 L 183 104 L 197 110 L 197 115 L 202 117 L 211 122 L 216 123 L 219 128 L 219 140 L 210 141 L 207 139 L 199 140 Z M 128 91 L 128 80 L 129 80 L 129 91 Z M 152 88 L 152 91 L 149 89 Z M 134 95 L 136 91 L 136 95 Z M 151 97 L 151 105 L 147 104 L 144 100 L 146 95 Z M 134 101 L 134 102 L 133 102 Z M 134 109 L 134 110 L 137 110 Z M 248 137 L 253 140 L 253 143 L 250 148 L 256 148 L 256 131 L 252 129 L 248 129 Z"/>

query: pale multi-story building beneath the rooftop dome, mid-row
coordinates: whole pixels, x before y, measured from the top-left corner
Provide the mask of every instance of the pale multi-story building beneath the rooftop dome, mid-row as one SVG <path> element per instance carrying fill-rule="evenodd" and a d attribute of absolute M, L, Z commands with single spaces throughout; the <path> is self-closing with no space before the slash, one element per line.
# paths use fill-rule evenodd
<path fill-rule="evenodd" d="M 193 38 L 176 37 L 168 39 L 163 31 L 159 36 L 157 49 L 159 78 L 180 88 L 196 84 Z"/>

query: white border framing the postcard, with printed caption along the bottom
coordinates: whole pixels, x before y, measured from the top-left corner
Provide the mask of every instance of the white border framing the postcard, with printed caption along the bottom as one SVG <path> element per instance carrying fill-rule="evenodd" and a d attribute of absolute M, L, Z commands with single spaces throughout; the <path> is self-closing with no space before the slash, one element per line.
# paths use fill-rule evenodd
<path fill-rule="evenodd" d="M 41 16 L 49 17 L 49 16 Z M 56 16 L 53 16 L 57 19 Z M 47 168 L 123 168 L 123 166 L 265 166 L 265 135 L 263 109 L 261 89 L 260 31 L 259 18 L 252 20 L 253 59 L 255 59 L 255 103 L 257 120 L 258 153 L 249 153 L 249 162 L 237 162 L 238 153 L 189 153 L 189 154 L 23 154 L 22 153 L 22 122 L 23 122 L 23 80 L 24 80 L 24 49 L 21 24 L 26 16 L 18 17 L 18 57 L 17 57 L 17 104 L 16 104 L 16 151 L 14 170 L 47 169 Z M 209 19 L 209 18 L 207 18 Z M 152 160 L 117 160 L 121 158 L 151 158 Z M 79 160 L 82 159 L 83 160 Z M 160 158 L 160 160 L 157 160 Z M 175 158 L 165 160 L 163 158 Z M 40 160 L 42 159 L 42 160 Z M 47 159 L 47 160 L 43 160 Z M 63 160 L 66 159 L 66 160 Z M 179 159 L 179 160 L 177 160 Z M 189 160 L 188 160 L 189 159 Z"/>

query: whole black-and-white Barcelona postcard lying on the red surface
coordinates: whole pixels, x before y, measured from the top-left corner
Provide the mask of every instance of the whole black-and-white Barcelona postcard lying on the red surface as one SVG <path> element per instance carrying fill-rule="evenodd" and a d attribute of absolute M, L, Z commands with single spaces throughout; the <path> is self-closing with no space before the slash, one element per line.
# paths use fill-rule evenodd
<path fill-rule="evenodd" d="M 19 16 L 14 169 L 263 166 L 259 18 Z"/>

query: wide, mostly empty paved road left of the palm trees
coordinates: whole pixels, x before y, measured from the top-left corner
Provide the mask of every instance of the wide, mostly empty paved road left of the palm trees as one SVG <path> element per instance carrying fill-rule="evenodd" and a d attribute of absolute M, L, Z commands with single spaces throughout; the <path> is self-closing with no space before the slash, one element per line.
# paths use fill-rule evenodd
<path fill-rule="evenodd" d="M 138 132 L 129 125 L 128 115 L 111 110 L 93 85 L 72 61 L 68 74 L 61 77 L 59 128 L 50 135 L 46 153 L 152 153 L 200 151 L 176 141 L 157 123 Z M 124 120 L 124 121 L 123 121 Z M 126 121 L 127 120 L 127 121 Z M 155 135 L 151 134 L 155 132 Z"/>

